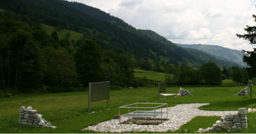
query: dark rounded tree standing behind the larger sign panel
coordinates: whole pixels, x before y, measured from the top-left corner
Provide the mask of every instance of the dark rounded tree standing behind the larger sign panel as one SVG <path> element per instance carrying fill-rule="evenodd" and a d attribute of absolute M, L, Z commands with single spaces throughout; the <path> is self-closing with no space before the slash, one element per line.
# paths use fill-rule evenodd
<path fill-rule="evenodd" d="M 82 85 L 88 86 L 89 82 L 101 81 L 101 48 L 94 40 L 86 39 L 77 48 L 75 62 Z"/>

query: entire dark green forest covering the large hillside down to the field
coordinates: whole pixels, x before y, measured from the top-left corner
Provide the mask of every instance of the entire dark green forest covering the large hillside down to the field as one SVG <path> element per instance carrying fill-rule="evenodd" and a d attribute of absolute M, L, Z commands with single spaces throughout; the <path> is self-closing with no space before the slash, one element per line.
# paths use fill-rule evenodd
<path fill-rule="evenodd" d="M 99 81 L 110 81 L 111 89 L 157 85 L 135 78 L 134 68 L 165 72 L 168 85 L 221 85 L 221 76 L 233 78 L 235 70 L 244 70 L 207 53 L 177 47 L 154 31 L 137 30 L 82 3 L 10 0 L 0 1 L 0 8 L 7 10 L 0 12 L 0 87 L 5 93 L 81 91 Z M 69 34 L 59 40 L 56 31 L 48 35 L 41 24 L 83 37 L 69 41 Z M 205 76 L 210 68 L 218 72 L 212 72 L 216 81 L 208 78 L 211 74 Z"/>

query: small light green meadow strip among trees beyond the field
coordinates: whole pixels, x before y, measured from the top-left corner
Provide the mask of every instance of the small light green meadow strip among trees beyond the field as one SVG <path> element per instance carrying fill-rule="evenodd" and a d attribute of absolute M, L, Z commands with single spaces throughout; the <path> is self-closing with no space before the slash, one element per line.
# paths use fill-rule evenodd
<path fill-rule="evenodd" d="M 135 77 L 144 77 L 144 76 L 146 76 L 147 79 L 151 79 L 151 80 L 154 80 L 154 81 L 158 81 L 158 82 L 164 81 L 164 73 L 134 69 L 133 74 L 134 74 Z"/>

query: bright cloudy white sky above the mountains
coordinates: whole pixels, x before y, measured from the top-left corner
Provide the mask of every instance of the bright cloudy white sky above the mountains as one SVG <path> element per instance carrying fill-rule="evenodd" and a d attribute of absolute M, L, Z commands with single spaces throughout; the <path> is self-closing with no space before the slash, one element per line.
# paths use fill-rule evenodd
<path fill-rule="evenodd" d="M 172 43 L 220 45 L 253 51 L 240 39 L 255 26 L 256 0 L 75 0 L 116 16 L 131 26 L 152 30 Z"/>

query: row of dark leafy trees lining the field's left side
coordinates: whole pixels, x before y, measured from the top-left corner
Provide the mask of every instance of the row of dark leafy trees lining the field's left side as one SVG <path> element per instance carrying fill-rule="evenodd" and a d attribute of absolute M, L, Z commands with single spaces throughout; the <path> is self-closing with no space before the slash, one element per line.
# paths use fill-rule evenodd
<path fill-rule="evenodd" d="M 20 20 L 0 19 L 2 90 L 86 87 L 98 81 L 121 87 L 132 85 L 134 64 L 129 55 L 117 54 L 113 49 L 102 51 L 90 39 L 75 48 L 67 38 L 56 41 L 52 36 L 40 25 L 30 27 Z"/>

